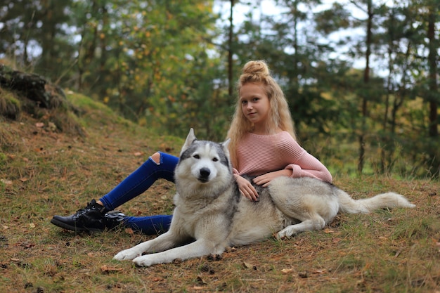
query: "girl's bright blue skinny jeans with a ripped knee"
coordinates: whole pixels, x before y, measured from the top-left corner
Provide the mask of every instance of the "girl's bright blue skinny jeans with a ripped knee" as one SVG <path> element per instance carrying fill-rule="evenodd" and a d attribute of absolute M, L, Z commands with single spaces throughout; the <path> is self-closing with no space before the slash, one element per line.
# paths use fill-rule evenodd
<path fill-rule="evenodd" d="M 111 211 L 143 193 L 157 179 L 163 178 L 174 182 L 174 169 L 176 169 L 177 162 L 179 162 L 178 157 L 164 152 L 160 152 L 159 164 L 149 157 L 141 167 L 119 183 L 110 193 L 101 197 L 101 202 Z M 171 220 L 171 215 L 127 216 L 124 219 L 124 226 L 144 234 L 155 235 L 166 232 Z"/>

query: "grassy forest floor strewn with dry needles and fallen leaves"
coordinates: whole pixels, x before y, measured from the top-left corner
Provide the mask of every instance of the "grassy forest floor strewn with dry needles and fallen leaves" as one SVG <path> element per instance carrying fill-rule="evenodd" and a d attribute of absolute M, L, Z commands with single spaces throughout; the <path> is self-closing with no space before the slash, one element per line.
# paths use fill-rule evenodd
<path fill-rule="evenodd" d="M 428 179 L 337 176 L 355 198 L 394 190 L 417 207 L 339 215 L 324 230 L 233 247 L 221 259 L 150 268 L 112 260 L 150 237 L 76 234 L 51 217 L 101 197 L 156 150 L 177 155 L 183 140 L 89 98 L 70 94 L 70 101 L 86 136 L 53 131 L 44 115 L 1 122 L 0 292 L 440 292 L 440 184 Z M 120 210 L 171 213 L 174 191 L 160 181 Z"/>

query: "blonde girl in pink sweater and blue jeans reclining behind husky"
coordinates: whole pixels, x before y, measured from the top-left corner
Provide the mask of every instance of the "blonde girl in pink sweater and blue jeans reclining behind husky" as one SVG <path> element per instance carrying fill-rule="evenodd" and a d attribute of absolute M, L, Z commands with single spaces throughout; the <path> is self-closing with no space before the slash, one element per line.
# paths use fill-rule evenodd
<path fill-rule="evenodd" d="M 238 80 L 238 100 L 228 131 L 229 151 L 240 193 L 258 200 L 258 193 L 242 175 L 257 176 L 267 186 L 277 176 L 310 176 L 331 183 L 327 168 L 296 141 L 287 100 L 264 61 L 250 61 Z M 178 157 L 155 152 L 141 167 L 97 202 L 71 216 L 53 216 L 51 223 L 68 230 L 100 231 L 120 224 L 153 235 L 168 230 L 172 216 L 125 216 L 110 212 L 147 190 L 158 178 L 174 182 Z"/>

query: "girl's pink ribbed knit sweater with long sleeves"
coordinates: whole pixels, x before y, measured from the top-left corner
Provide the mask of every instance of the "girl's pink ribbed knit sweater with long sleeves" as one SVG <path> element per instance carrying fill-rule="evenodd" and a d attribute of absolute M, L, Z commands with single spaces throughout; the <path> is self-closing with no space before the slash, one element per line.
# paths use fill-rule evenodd
<path fill-rule="evenodd" d="M 328 169 L 306 152 L 287 131 L 267 136 L 245 135 L 238 143 L 237 161 L 234 173 L 240 175 L 258 176 L 291 169 L 292 177 L 309 176 L 332 182 Z"/>

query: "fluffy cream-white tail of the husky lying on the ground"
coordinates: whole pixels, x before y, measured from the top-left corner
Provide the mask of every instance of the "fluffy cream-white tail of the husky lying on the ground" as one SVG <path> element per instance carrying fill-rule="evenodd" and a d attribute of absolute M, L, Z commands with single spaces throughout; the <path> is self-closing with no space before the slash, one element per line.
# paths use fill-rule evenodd
<path fill-rule="evenodd" d="M 381 193 L 370 198 L 354 200 L 343 190 L 338 192 L 339 212 L 349 214 L 368 214 L 376 209 L 396 207 L 415 207 L 399 193 Z"/>

